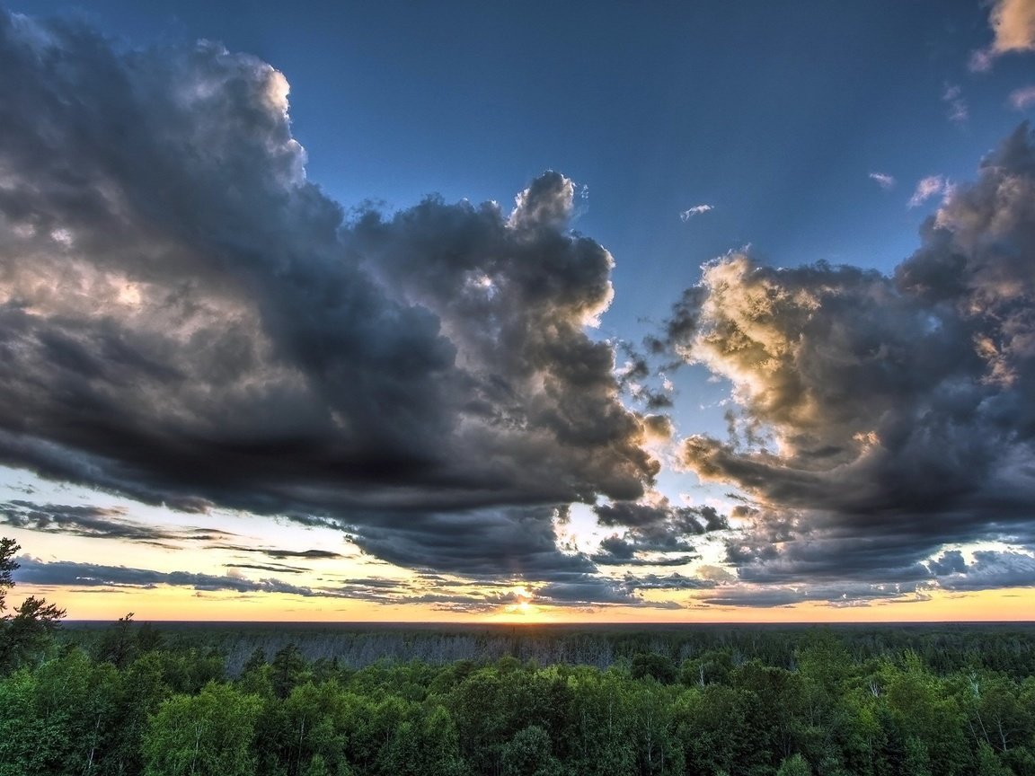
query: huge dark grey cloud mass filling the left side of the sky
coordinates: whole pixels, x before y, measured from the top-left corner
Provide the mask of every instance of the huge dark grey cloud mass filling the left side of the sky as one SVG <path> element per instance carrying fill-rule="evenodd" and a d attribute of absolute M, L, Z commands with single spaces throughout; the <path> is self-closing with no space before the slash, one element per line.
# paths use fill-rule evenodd
<path fill-rule="evenodd" d="M 120 52 L 0 12 L 0 464 L 421 567 L 487 569 L 462 531 L 510 542 L 479 547 L 501 573 L 586 567 L 549 509 L 531 543 L 526 516 L 474 525 L 635 499 L 658 469 L 658 421 L 585 333 L 613 262 L 567 231 L 571 181 L 346 223 L 286 95 L 216 43 Z"/>

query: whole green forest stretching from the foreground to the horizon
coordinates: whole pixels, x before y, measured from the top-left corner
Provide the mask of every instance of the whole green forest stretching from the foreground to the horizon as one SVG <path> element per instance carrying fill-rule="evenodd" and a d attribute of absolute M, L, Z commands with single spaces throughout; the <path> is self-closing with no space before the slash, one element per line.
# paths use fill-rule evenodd
<path fill-rule="evenodd" d="M 3 614 L 0 776 L 1035 776 L 1028 624 L 335 631 L 62 615 L 31 598 Z"/>

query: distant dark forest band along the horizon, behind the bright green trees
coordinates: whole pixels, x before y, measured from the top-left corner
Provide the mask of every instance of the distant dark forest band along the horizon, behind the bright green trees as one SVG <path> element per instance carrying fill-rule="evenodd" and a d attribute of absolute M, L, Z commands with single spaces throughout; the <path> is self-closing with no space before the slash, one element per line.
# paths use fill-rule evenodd
<path fill-rule="evenodd" d="M 96 623 L 65 623 L 66 634 L 88 645 Z M 734 665 L 761 660 L 794 669 L 797 652 L 811 641 L 815 625 L 421 625 L 324 623 L 164 623 L 172 643 L 226 655 L 236 676 L 258 649 L 266 655 L 294 645 L 306 660 L 336 659 L 362 668 L 381 660 L 493 662 L 514 657 L 539 665 L 558 663 L 608 668 L 635 655 L 655 653 L 681 663 L 707 652 L 729 654 Z M 1035 624 L 839 625 L 826 628 L 853 660 L 919 655 L 939 673 L 981 665 L 1015 677 L 1035 675 Z"/>

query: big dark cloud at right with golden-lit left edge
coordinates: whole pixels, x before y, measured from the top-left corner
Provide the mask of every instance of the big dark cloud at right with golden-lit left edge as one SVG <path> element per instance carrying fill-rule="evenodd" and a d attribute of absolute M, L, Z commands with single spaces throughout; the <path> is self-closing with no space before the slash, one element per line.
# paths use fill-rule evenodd
<path fill-rule="evenodd" d="M 735 386 L 730 440 L 690 437 L 682 461 L 755 500 L 730 540 L 742 578 L 907 581 L 945 543 L 1030 541 L 1028 126 L 947 197 L 892 276 L 732 253 L 686 292 L 662 345 Z"/>

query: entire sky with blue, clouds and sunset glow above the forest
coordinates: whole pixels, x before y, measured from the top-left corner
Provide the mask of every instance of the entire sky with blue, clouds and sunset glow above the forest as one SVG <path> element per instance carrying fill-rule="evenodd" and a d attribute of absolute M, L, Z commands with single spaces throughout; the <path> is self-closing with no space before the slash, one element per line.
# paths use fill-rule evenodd
<path fill-rule="evenodd" d="M 1035 0 L 0 9 L 69 619 L 1035 604 Z"/>

